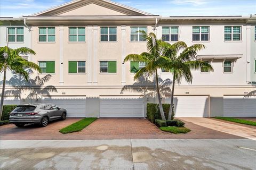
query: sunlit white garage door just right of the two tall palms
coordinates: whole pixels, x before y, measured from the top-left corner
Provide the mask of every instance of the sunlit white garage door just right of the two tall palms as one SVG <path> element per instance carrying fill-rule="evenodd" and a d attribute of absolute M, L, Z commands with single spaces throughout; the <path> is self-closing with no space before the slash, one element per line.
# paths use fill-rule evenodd
<path fill-rule="evenodd" d="M 165 103 L 170 104 L 171 98 Z M 175 117 L 208 117 L 208 96 L 174 96 Z"/>

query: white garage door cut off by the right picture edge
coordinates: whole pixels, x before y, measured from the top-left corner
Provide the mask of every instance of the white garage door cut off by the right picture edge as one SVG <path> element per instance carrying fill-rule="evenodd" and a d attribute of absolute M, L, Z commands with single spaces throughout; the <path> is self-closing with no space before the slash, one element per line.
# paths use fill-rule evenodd
<path fill-rule="evenodd" d="M 224 96 L 224 116 L 256 117 L 256 96 Z"/>

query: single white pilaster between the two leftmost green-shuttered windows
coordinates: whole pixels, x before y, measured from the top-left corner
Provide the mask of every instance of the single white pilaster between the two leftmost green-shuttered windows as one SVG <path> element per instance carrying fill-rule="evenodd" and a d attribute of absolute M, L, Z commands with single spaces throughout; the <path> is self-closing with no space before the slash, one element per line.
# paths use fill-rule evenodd
<path fill-rule="evenodd" d="M 64 36 L 64 27 L 60 26 L 59 28 L 60 32 L 60 85 L 63 85 L 64 83 L 64 69 L 63 69 L 63 36 Z"/>

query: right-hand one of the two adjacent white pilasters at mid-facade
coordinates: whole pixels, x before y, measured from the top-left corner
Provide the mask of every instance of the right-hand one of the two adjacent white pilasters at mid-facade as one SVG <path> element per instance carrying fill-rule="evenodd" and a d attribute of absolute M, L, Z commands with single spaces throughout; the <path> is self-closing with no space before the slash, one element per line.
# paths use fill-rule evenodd
<path fill-rule="evenodd" d="M 93 26 L 93 84 L 97 85 L 97 76 L 98 76 L 98 68 L 99 68 L 99 61 L 98 61 L 98 44 L 99 44 L 99 36 L 98 36 L 98 26 Z"/>

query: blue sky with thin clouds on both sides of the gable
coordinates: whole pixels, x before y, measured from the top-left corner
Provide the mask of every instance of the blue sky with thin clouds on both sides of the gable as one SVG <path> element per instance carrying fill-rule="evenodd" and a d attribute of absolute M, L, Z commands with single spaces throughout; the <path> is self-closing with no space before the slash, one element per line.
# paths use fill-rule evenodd
<path fill-rule="evenodd" d="M 0 0 L 0 16 L 22 16 L 71 0 Z M 114 0 L 162 16 L 256 14 L 256 0 Z"/>

